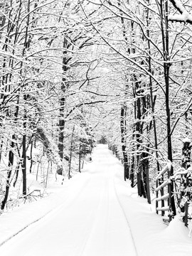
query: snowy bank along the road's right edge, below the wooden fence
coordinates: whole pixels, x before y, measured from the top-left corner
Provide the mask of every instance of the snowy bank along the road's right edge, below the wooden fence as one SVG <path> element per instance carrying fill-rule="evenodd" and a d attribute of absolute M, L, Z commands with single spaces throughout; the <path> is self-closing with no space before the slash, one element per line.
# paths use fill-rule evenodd
<path fill-rule="evenodd" d="M 181 220 L 175 218 L 169 226 L 164 225 L 155 208 L 138 197 L 137 188 L 131 188 L 129 181 L 122 181 L 119 172 L 114 177 L 114 186 L 139 255 L 192 255 L 192 238 Z"/>

